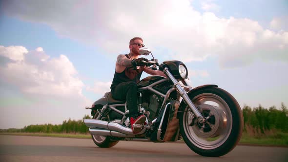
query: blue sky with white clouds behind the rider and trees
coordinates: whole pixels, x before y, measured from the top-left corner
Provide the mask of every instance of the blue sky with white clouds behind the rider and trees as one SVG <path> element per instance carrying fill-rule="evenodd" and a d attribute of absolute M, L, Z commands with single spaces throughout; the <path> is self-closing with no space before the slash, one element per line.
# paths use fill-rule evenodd
<path fill-rule="evenodd" d="M 1 0 L 0 129 L 89 115 L 133 37 L 193 87 L 288 105 L 287 0 Z"/>

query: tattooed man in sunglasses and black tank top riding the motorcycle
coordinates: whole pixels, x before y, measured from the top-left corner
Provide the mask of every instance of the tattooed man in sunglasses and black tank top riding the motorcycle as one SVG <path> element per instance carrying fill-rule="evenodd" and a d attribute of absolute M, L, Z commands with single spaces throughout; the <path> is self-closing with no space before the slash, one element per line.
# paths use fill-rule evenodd
<path fill-rule="evenodd" d="M 142 61 L 147 61 L 147 59 L 138 58 L 141 55 L 139 52 L 141 47 L 144 47 L 142 38 L 135 37 L 129 42 L 129 54 L 118 55 L 114 78 L 110 87 L 114 99 L 126 100 L 133 134 L 141 131 L 141 128 L 133 128 L 133 124 L 143 124 L 146 121 L 145 115 L 139 116 L 137 108 L 137 83 L 140 81 L 142 72 L 166 77 L 162 71 L 142 66 Z"/>

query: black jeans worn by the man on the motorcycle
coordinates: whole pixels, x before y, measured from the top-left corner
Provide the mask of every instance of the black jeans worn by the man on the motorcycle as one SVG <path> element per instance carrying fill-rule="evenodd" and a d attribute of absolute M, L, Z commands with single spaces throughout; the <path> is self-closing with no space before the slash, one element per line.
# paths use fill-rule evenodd
<path fill-rule="evenodd" d="M 138 116 L 137 84 L 134 81 L 122 82 L 111 90 L 115 100 L 126 100 L 130 117 Z"/>

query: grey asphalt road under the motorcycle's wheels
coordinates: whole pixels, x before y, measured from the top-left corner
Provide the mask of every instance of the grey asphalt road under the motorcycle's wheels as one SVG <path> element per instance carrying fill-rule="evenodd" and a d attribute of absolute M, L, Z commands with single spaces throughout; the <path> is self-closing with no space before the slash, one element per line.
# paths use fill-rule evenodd
<path fill-rule="evenodd" d="M 238 145 L 219 158 L 202 157 L 185 143 L 121 141 L 99 148 L 92 140 L 0 136 L 0 162 L 288 162 L 288 148 Z"/>

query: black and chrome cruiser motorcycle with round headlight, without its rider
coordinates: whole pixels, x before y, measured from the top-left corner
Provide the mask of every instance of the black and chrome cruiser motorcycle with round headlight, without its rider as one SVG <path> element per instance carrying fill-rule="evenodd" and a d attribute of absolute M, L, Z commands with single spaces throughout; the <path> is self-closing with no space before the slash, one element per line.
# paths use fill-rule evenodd
<path fill-rule="evenodd" d="M 133 124 L 141 132 L 133 134 L 126 101 L 117 101 L 107 92 L 91 107 L 92 119 L 85 119 L 93 142 L 103 148 L 119 141 L 176 142 L 184 140 L 195 153 L 219 157 L 239 142 L 244 126 L 242 110 L 235 98 L 214 84 L 191 87 L 188 71 L 181 61 L 158 63 L 151 51 L 145 66 L 161 70 L 167 78 L 149 76 L 138 84 L 138 110 L 146 116 L 144 124 Z M 152 66 L 152 67 L 151 67 Z"/>

